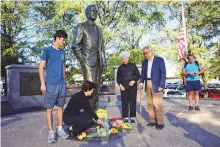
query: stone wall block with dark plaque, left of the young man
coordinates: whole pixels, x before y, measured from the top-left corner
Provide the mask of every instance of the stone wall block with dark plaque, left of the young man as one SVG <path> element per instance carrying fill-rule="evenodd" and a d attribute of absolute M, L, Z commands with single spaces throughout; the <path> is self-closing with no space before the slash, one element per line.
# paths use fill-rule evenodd
<path fill-rule="evenodd" d="M 9 65 L 7 70 L 7 100 L 13 109 L 43 107 L 37 66 Z"/>

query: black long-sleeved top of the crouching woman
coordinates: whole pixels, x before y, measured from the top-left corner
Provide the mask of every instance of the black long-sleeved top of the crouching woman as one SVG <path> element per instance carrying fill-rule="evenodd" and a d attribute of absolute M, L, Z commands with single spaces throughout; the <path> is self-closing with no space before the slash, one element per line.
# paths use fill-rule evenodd
<path fill-rule="evenodd" d="M 64 110 L 64 116 L 80 116 L 81 109 L 87 112 L 91 119 L 98 119 L 97 115 L 89 105 L 88 97 L 85 96 L 83 91 L 80 91 L 71 97 L 66 109 Z"/>

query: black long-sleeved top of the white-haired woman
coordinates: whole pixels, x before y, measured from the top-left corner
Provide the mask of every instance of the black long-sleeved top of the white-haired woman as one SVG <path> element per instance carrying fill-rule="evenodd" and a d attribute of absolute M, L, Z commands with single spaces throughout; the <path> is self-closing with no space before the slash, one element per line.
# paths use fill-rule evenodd
<path fill-rule="evenodd" d="M 117 83 L 122 84 L 126 90 L 129 89 L 129 82 L 135 81 L 134 86 L 137 86 L 137 81 L 140 78 L 140 72 L 134 63 L 121 64 L 117 72 Z"/>

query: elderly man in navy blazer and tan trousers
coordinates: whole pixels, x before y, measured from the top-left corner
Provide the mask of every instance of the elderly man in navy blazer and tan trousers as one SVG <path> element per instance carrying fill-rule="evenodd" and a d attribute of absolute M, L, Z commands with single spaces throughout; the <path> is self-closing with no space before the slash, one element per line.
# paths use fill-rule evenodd
<path fill-rule="evenodd" d="M 164 128 L 163 120 L 163 89 L 166 81 L 166 68 L 163 58 L 154 56 L 151 47 L 143 48 L 145 60 L 142 62 L 142 71 L 139 88 L 146 84 L 147 109 L 150 123 L 147 126 L 155 126 L 156 129 Z"/>

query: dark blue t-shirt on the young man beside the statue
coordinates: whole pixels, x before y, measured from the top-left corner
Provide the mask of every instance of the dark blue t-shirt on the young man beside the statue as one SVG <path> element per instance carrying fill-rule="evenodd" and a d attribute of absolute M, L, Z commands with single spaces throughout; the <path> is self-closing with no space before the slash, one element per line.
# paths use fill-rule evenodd
<path fill-rule="evenodd" d="M 46 61 L 46 84 L 63 84 L 65 51 L 52 46 L 45 48 L 41 60 Z"/>

